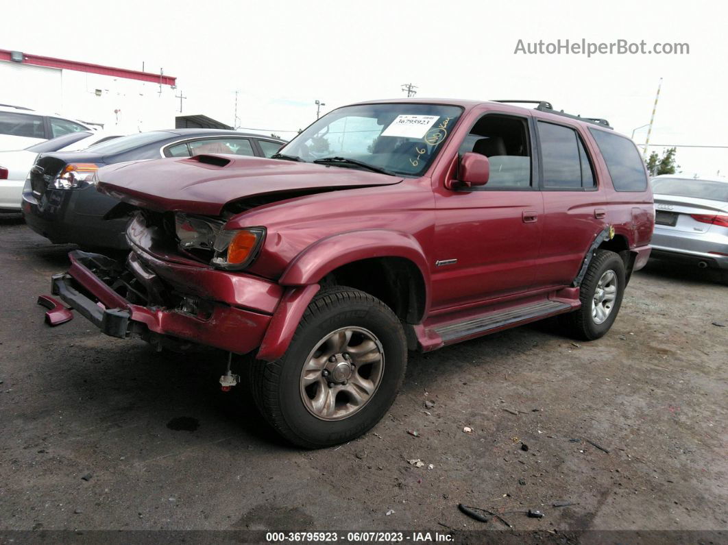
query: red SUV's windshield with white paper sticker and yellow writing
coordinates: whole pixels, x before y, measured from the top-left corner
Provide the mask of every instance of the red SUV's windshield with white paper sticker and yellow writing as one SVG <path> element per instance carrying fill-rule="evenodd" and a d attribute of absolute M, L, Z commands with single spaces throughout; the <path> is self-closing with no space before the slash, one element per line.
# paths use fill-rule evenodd
<path fill-rule="evenodd" d="M 419 176 L 435 159 L 460 114 L 459 106 L 436 104 L 347 106 L 319 119 L 279 154 L 305 162 L 335 158 L 328 164 L 368 165 L 371 170 Z"/>

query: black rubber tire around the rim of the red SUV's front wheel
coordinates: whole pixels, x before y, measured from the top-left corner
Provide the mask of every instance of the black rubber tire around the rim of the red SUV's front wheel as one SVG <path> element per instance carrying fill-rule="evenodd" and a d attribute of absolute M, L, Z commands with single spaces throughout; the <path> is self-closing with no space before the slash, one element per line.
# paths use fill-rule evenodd
<path fill-rule="evenodd" d="M 381 343 L 386 356 L 379 386 L 360 410 L 341 420 L 322 420 L 306 408 L 301 372 L 321 339 L 343 327 L 361 327 Z M 347 442 L 371 429 L 392 406 L 407 366 L 407 343 L 399 319 L 379 299 L 350 287 L 331 287 L 314 297 L 288 351 L 275 362 L 253 362 L 253 399 L 266 420 L 285 439 L 306 448 Z"/>

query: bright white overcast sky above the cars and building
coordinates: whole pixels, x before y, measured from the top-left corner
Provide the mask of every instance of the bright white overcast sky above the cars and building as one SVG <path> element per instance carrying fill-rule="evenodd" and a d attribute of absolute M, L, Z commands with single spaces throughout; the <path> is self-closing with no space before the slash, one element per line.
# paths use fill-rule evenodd
<path fill-rule="evenodd" d="M 405 96 L 548 100 L 644 144 L 728 146 L 728 4 L 715 1 L 136 1 L 5 3 L 0 48 L 176 76 L 183 114 L 292 138 L 347 103 Z M 29 31 L 30 28 L 43 29 Z M 689 44 L 687 55 L 523 55 L 519 40 Z M 0 92 L 1 86 L 0 82 Z M 728 148 L 678 147 L 686 175 Z"/>

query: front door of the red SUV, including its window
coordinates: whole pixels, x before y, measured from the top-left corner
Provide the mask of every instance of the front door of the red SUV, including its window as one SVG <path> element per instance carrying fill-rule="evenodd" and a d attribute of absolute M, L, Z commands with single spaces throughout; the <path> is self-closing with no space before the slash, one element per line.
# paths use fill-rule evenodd
<path fill-rule="evenodd" d="M 488 156 L 485 186 L 435 188 L 432 310 L 526 292 L 534 285 L 543 199 L 530 116 L 488 112 L 459 156 Z"/>

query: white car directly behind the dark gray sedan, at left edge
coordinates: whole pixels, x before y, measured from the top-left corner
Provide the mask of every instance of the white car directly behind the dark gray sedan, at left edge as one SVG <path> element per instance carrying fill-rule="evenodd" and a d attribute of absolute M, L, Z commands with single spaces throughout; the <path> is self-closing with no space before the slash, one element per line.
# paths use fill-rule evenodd
<path fill-rule="evenodd" d="M 31 170 L 38 154 L 50 151 L 78 151 L 119 136 L 121 135 L 106 132 L 69 132 L 25 149 L 0 151 L 0 211 L 20 212 L 25 178 L 28 178 L 28 171 Z"/>

